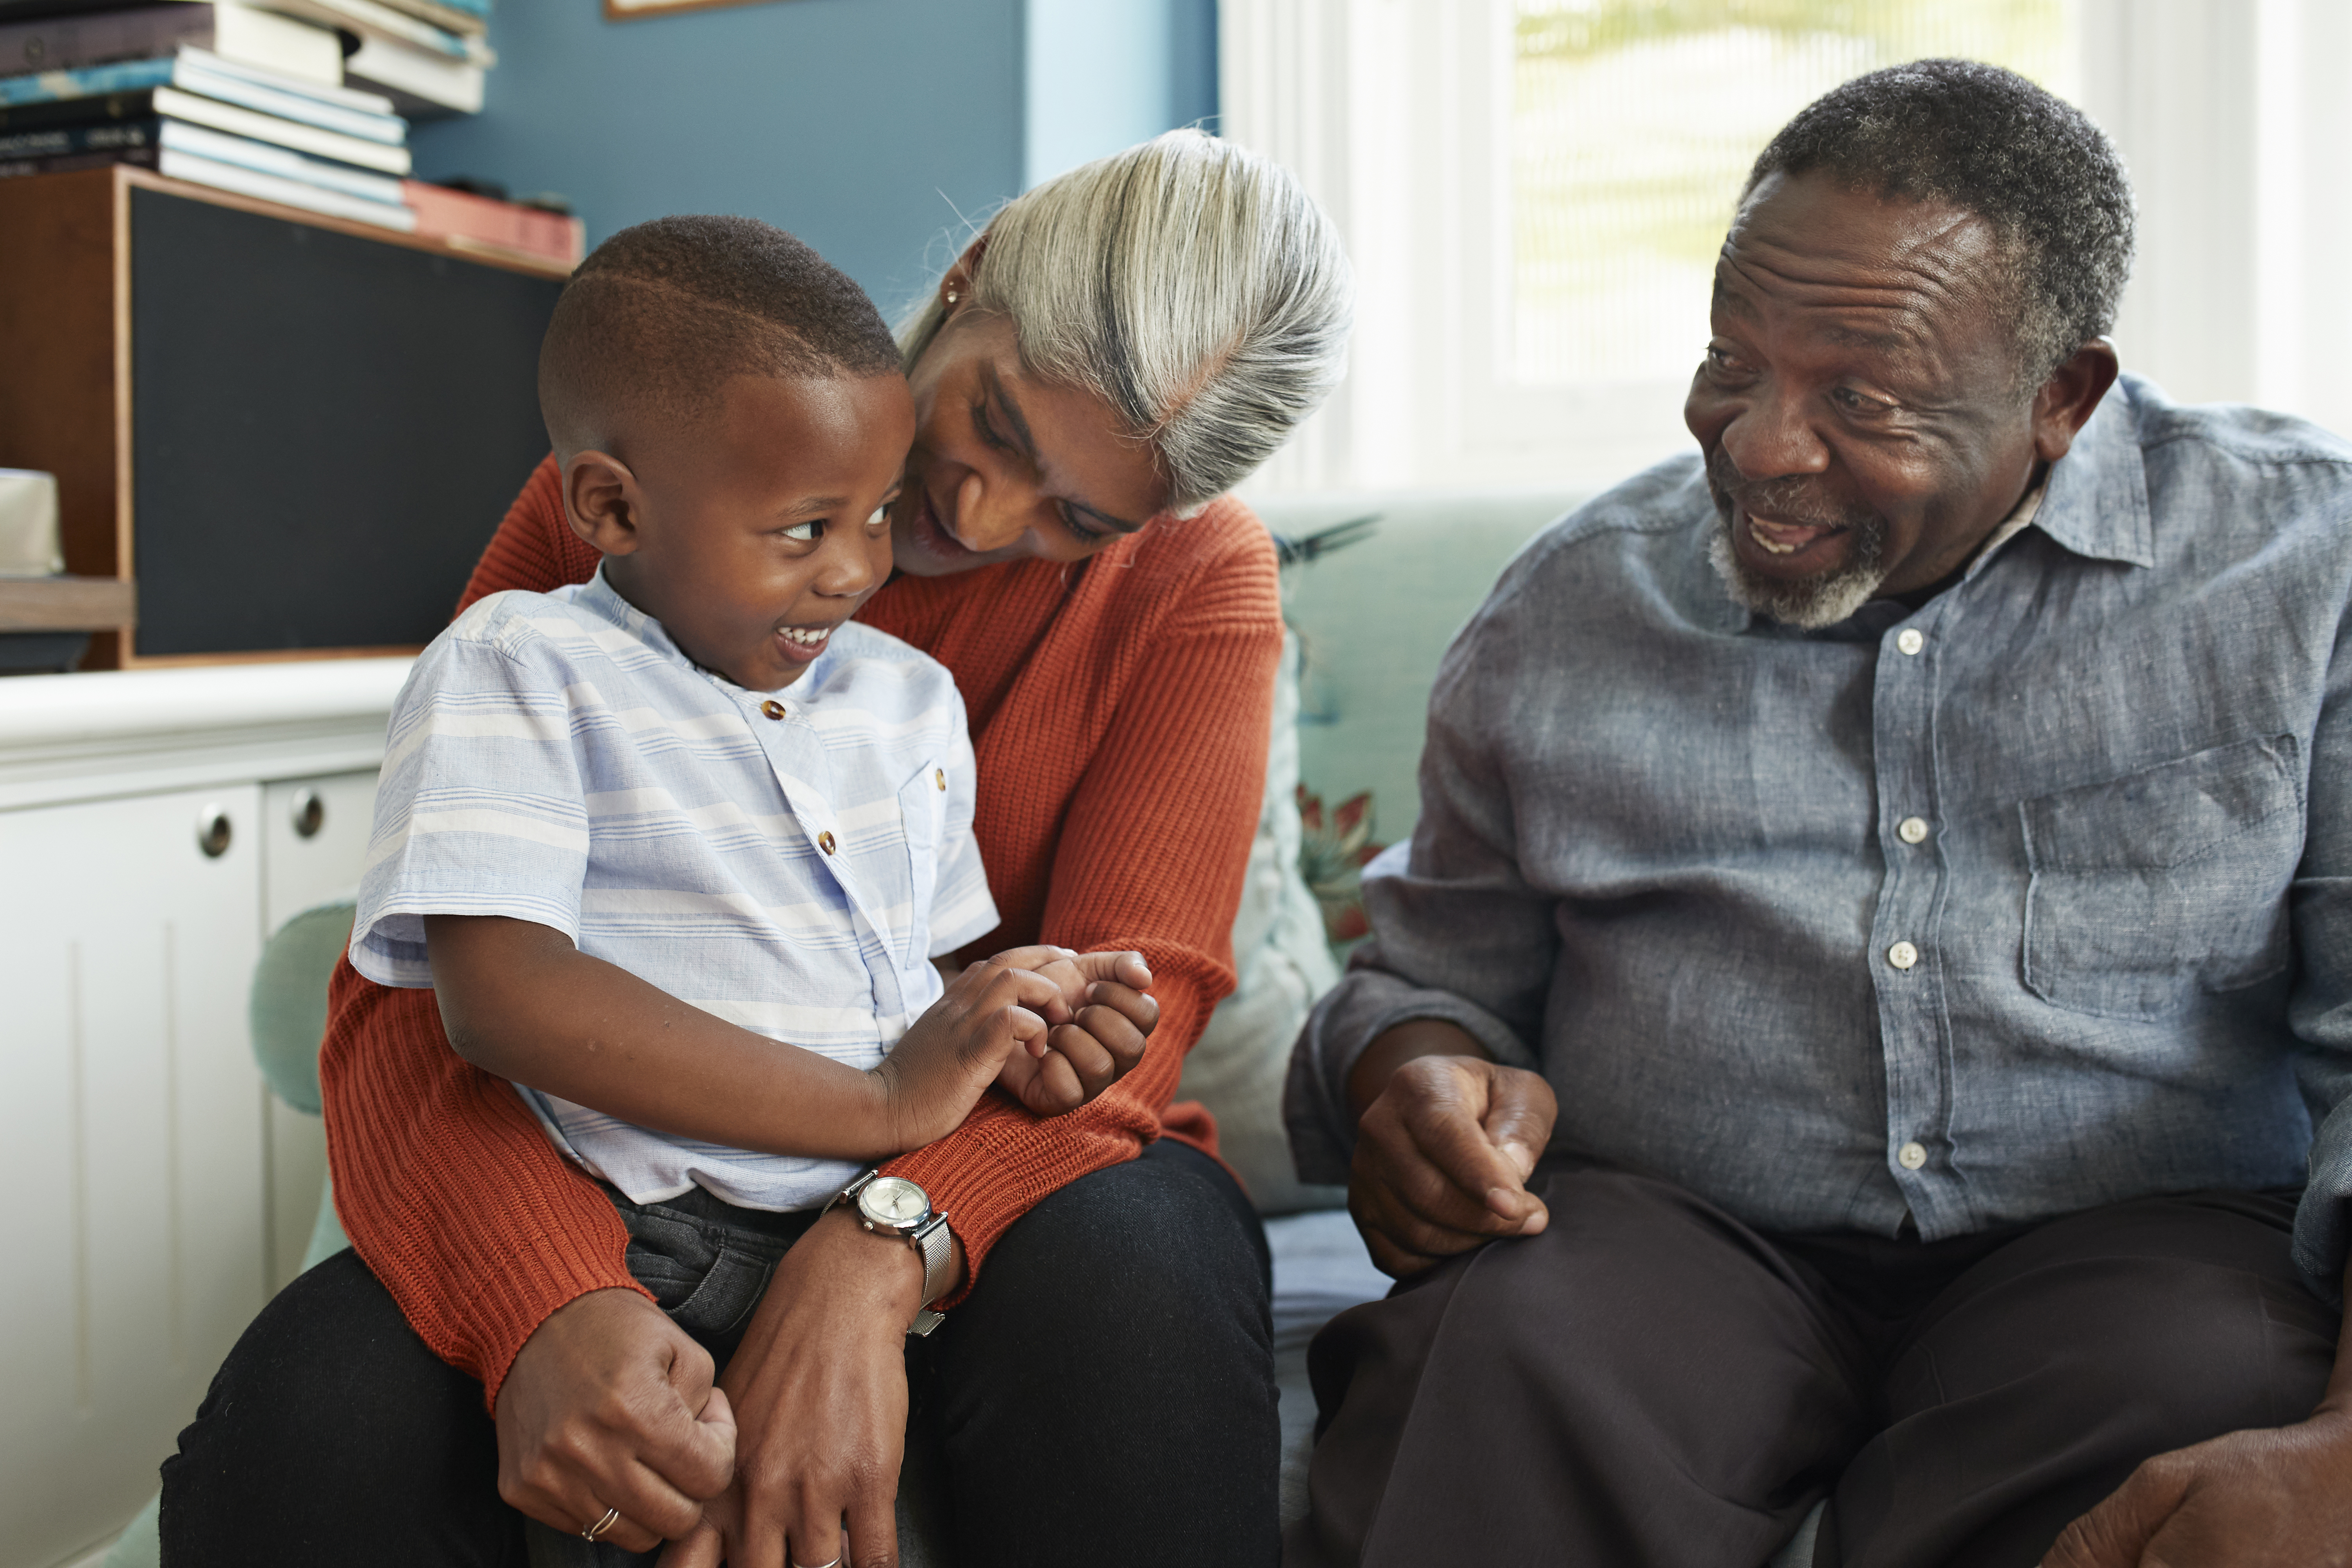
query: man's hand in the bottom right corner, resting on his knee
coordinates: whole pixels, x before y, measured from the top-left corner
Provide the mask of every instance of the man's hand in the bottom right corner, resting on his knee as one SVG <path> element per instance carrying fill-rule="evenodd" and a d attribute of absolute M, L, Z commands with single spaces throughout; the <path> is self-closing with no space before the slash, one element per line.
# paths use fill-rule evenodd
<path fill-rule="evenodd" d="M 2352 1415 L 2159 1453 L 2042 1568 L 2352 1568 Z"/>

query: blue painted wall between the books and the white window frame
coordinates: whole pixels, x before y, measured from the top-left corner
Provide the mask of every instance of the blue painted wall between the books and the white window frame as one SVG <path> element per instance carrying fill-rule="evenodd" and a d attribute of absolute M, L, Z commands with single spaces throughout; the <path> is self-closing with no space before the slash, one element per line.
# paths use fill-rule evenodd
<path fill-rule="evenodd" d="M 501 0 L 485 110 L 426 179 L 562 190 L 595 244 L 668 212 L 790 228 L 884 313 L 1030 174 L 1216 113 L 1216 0 L 767 0 L 604 21 Z"/>

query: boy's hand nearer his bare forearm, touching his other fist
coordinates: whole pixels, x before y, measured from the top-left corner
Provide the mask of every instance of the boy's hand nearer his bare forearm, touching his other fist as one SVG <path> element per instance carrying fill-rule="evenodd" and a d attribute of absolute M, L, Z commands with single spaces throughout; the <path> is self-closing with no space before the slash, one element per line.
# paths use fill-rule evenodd
<path fill-rule="evenodd" d="M 948 980 L 948 992 L 873 1070 L 882 1091 L 889 1150 L 946 1138 L 1023 1044 L 1044 1046 L 1047 1020 L 1070 1016 L 1063 990 L 1030 966 L 985 959 Z"/>

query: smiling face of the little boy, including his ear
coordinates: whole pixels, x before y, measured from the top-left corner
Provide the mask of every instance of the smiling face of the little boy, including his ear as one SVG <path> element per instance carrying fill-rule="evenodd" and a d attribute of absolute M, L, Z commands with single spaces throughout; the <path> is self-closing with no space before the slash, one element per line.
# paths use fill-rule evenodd
<path fill-rule="evenodd" d="M 800 679 L 889 578 L 901 376 L 734 376 L 696 421 L 564 461 L 564 515 L 614 590 L 750 691 Z"/>

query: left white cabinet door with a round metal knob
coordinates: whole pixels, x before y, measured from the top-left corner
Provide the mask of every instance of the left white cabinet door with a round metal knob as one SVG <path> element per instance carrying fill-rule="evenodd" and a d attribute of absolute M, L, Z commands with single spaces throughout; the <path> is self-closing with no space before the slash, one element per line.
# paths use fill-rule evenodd
<path fill-rule="evenodd" d="M 226 820 L 212 858 L 202 823 Z M 261 790 L 0 813 L 0 1552 L 120 1523 L 263 1302 Z"/>

